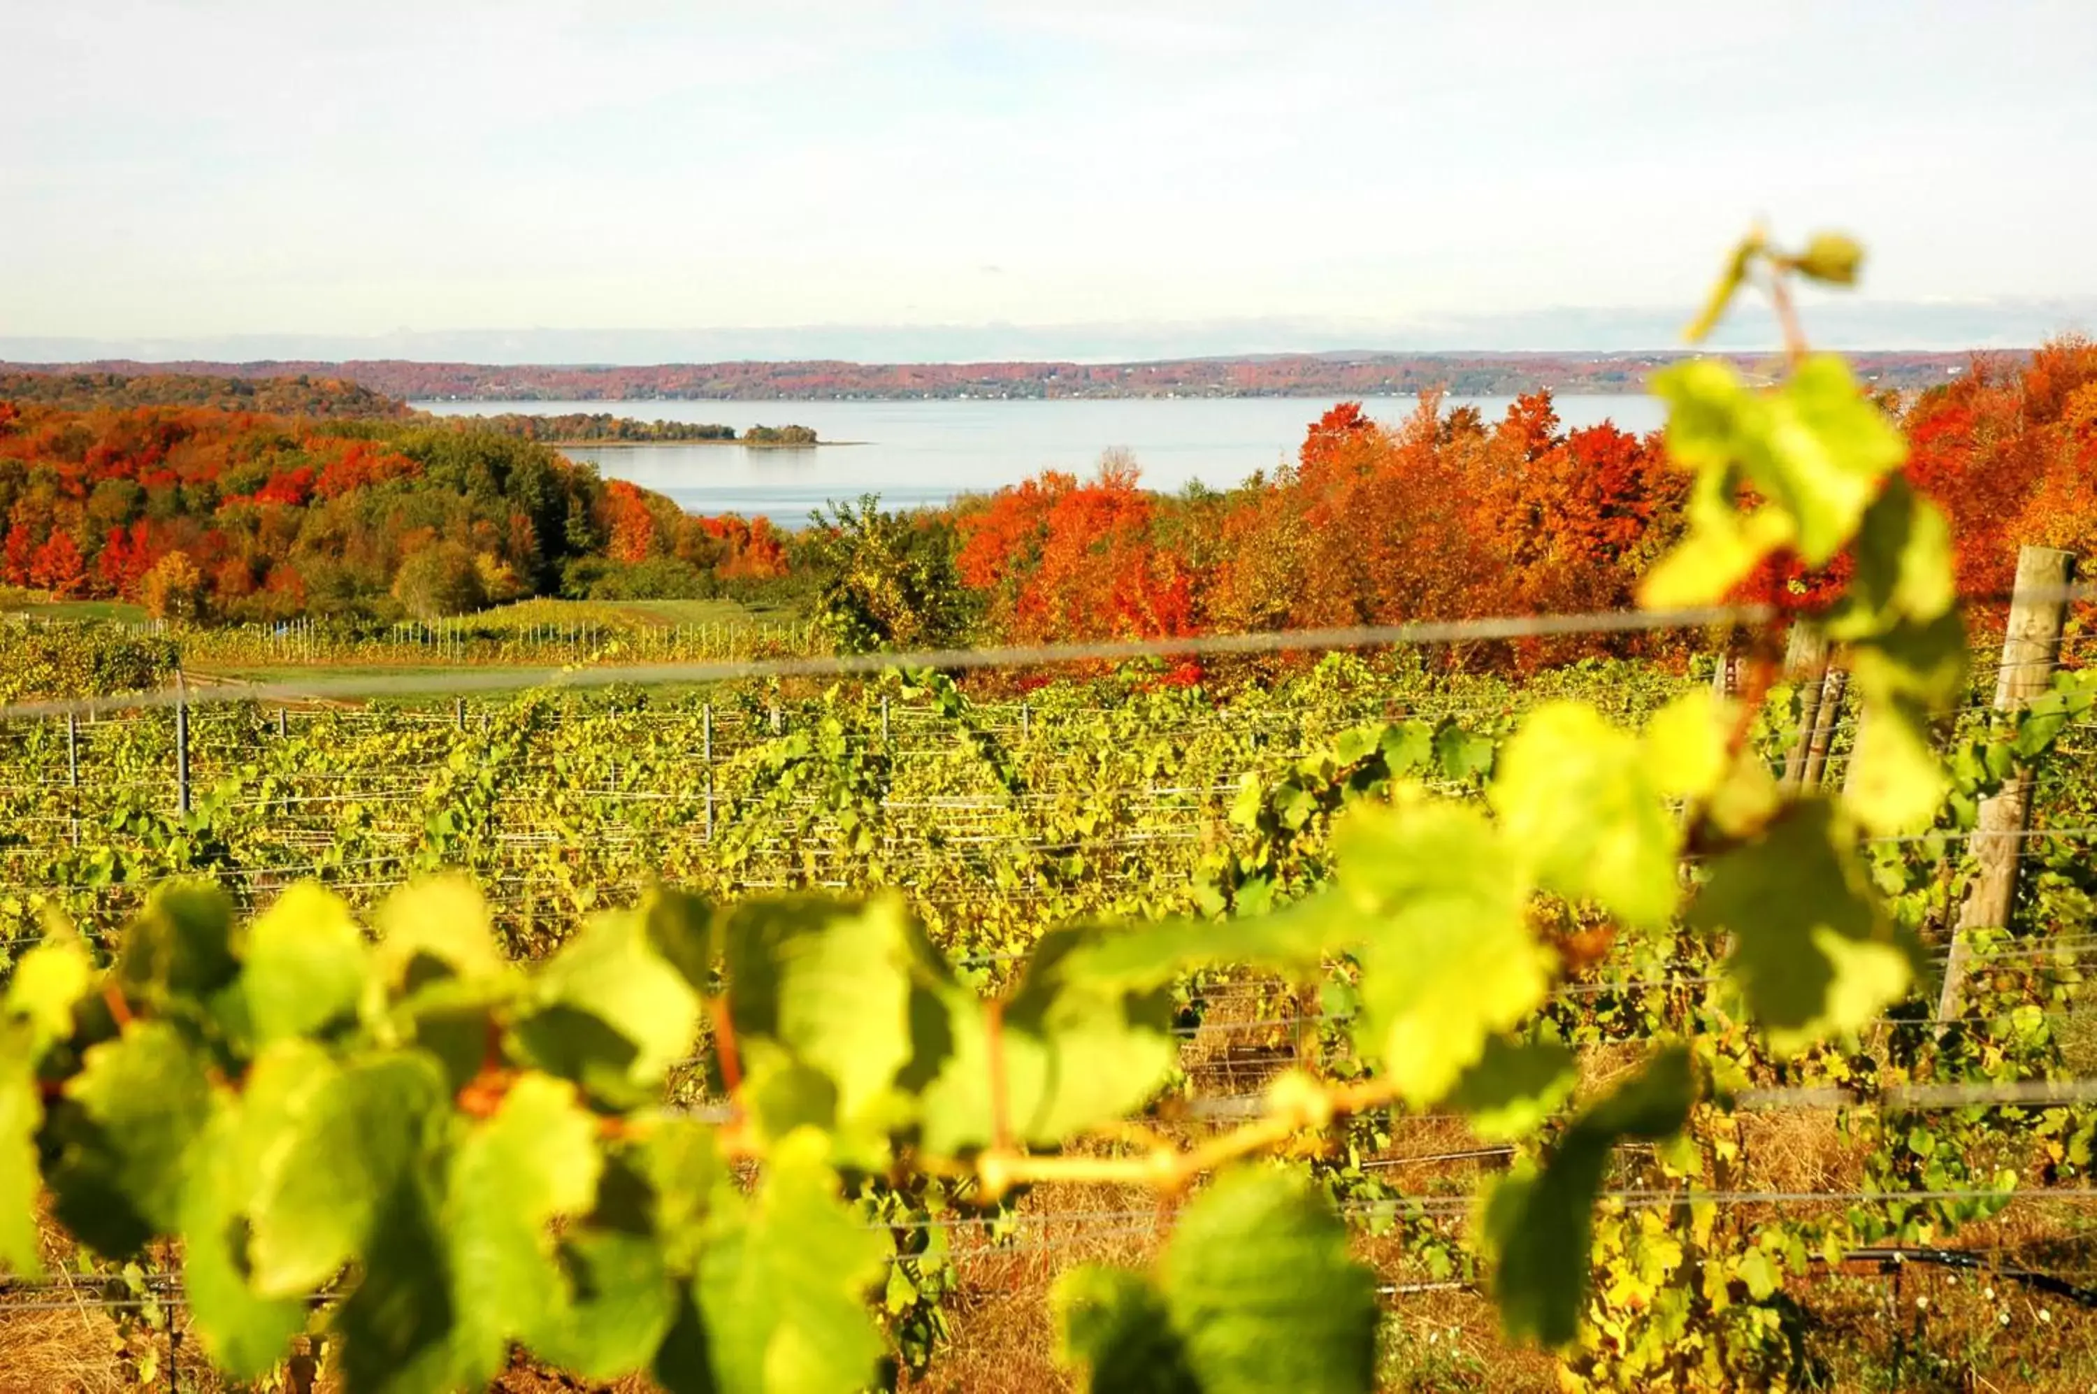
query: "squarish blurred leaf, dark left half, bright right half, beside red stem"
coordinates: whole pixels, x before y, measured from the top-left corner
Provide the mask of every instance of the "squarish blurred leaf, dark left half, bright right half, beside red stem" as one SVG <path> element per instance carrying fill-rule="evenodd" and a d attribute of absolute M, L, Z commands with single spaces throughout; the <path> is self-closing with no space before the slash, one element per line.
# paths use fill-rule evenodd
<path fill-rule="evenodd" d="M 814 1124 L 864 1147 L 908 1117 L 895 1080 L 916 1052 L 914 1008 L 931 1010 L 918 981 L 946 971 L 900 899 L 742 901 L 723 943 L 747 1103 L 768 1134 Z"/>

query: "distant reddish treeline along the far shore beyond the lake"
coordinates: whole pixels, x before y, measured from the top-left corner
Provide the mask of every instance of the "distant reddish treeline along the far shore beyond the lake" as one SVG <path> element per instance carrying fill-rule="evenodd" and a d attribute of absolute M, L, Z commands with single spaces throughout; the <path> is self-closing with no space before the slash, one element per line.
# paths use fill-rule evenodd
<path fill-rule="evenodd" d="M 1631 354 L 1260 354 L 1172 358 L 1160 363 L 663 363 L 625 365 L 478 365 L 405 363 L 86 363 L 101 373 L 212 373 L 281 377 L 336 375 L 407 400 L 879 400 L 879 398 L 1099 398 L 1099 396 L 1413 396 L 1443 388 L 1457 396 L 1522 392 L 1642 392 L 1652 369 L 1676 352 Z M 1724 354 L 1743 369 L 1768 367 L 1766 354 Z M 2019 367 L 2028 354 L 2003 354 Z M 1850 361 L 1875 388 L 1917 392 L 1971 371 L 1967 352 L 1858 352 Z M 0 365 L 4 371 L 10 365 Z M 13 365 L 19 367 L 19 365 Z M 55 365 L 42 365 L 52 371 Z"/>

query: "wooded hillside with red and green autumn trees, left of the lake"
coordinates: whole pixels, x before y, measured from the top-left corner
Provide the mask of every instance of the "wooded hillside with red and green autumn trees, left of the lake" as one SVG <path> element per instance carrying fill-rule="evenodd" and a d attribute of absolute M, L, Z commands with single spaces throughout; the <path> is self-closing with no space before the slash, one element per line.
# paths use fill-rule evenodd
<path fill-rule="evenodd" d="M 702 595 L 784 570 L 763 524 L 692 518 L 543 442 L 432 417 L 0 400 L 0 585 L 185 618 Z"/>

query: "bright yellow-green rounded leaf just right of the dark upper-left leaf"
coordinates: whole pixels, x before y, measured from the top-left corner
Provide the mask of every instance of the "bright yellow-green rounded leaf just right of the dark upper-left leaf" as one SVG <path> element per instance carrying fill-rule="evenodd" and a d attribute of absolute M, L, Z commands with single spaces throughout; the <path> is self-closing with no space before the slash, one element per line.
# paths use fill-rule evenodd
<path fill-rule="evenodd" d="M 304 880 L 247 927 L 241 992 L 258 1046 L 356 1017 L 371 952 L 350 908 Z"/>

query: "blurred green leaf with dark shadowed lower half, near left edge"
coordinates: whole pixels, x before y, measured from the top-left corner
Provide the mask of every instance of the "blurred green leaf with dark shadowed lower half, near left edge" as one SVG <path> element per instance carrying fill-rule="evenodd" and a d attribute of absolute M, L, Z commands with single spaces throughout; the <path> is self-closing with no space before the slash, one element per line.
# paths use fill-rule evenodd
<path fill-rule="evenodd" d="M 88 1046 L 50 1109 L 59 1220 L 109 1258 L 174 1230 L 191 1145 L 210 1117 L 206 1061 L 174 1025 L 140 1021 Z"/>

